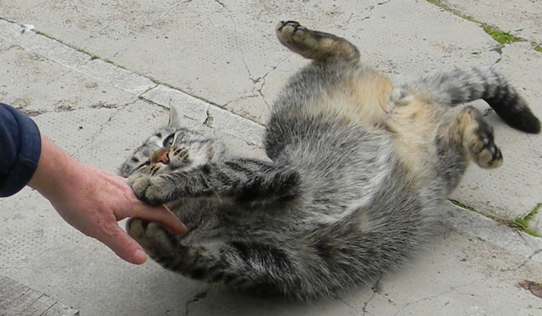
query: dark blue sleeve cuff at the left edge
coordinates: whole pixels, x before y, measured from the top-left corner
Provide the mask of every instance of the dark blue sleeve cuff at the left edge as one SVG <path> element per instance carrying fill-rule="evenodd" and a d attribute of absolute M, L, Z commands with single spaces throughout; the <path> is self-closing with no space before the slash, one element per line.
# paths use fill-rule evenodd
<path fill-rule="evenodd" d="M 36 123 L 0 103 L 0 197 L 14 195 L 27 185 L 40 154 L 40 130 Z"/>

